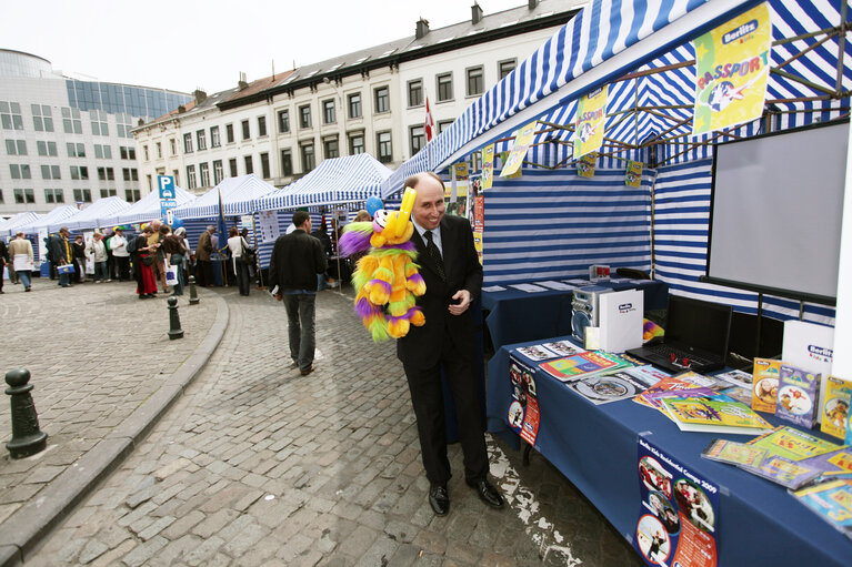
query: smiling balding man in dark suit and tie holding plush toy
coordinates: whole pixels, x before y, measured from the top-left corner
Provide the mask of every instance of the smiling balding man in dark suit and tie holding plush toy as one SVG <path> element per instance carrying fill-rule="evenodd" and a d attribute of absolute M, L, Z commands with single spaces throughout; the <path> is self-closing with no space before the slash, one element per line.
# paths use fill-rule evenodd
<path fill-rule="evenodd" d="M 488 480 L 488 450 L 477 397 L 475 333 L 470 306 L 482 288 L 482 265 L 473 247 L 473 234 L 467 219 L 444 216 L 443 182 L 434 173 L 409 178 L 405 186 L 417 191 L 411 240 L 427 285 L 425 294 L 418 298 L 425 324 L 412 326 L 397 342 L 397 355 L 405 369 L 417 416 L 423 468 L 430 483 L 429 504 L 439 516 L 450 509 L 443 366 L 455 401 L 464 479 L 485 504 L 500 508 L 503 499 Z"/>

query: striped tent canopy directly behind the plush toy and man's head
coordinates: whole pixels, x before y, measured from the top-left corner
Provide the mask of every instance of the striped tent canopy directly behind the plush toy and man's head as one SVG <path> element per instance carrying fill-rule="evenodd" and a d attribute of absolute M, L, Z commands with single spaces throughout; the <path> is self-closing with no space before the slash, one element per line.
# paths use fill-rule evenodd
<path fill-rule="evenodd" d="M 323 160 L 319 168 L 258 201 L 259 211 L 334 205 L 378 196 L 391 170 L 368 153 Z"/>

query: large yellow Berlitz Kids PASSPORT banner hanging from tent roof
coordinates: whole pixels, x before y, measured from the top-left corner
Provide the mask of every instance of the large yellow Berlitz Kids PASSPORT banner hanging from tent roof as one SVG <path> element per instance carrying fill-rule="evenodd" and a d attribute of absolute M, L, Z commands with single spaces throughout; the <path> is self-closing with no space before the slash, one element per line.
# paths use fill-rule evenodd
<path fill-rule="evenodd" d="M 766 3 L 704 33 L 693 43 L 696 61 L 693 135 L 759 119 L 772 49 Z"/>

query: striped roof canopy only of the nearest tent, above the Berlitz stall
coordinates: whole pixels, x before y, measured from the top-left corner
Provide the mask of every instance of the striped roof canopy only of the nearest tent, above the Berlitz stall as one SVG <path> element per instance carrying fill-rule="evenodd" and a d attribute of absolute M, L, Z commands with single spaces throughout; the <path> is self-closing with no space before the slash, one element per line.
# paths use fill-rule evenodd
<path fill-rule="evenodd" d="M 648 163 L 653 145 L 655 164 L 694 160 L 708 155 L 708 142 L 750 135 L 738 131 L 691 135 L 695 89 L 691 40 L 758 3 L 664 0 L 652 7 L 643 0 L 594 0 L 405 162 L 382 194 L 398 191 L 411 173 L 441 170 L 492 142 L 498 152 L 509 150 L 513 131 L 537 119 L 540 126 L 528 161 L 547 168 L 568 165 L 577 101 L 604 84 L 609 102 L 604 161 L 599 166 L 623 168 L 627 159 Z M 770 0 L 771 128 L 848 112 L 852 48 L 839 31 L 845 4 L 846 0 Z"/>

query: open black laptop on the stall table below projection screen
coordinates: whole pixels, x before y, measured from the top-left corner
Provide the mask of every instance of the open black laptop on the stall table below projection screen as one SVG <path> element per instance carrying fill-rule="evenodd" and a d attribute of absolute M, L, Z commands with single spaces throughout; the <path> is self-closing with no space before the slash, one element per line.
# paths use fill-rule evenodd
<path fill-rule="evenodd" d="M 723 368 L 732 315 L 730 305 L 669 295 L 663 341 L 627 354 L 674 374 Z"/>

